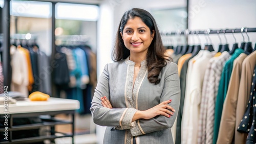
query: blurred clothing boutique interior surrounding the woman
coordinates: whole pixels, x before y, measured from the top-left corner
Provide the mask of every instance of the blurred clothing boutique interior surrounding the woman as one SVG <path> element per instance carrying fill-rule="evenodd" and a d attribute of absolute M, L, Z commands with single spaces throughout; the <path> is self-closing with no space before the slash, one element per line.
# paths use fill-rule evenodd
<path fill-rule="evenodd" d="M 255 139 L 256 1 L 0 0 L 0 143 L 103 143 L 91 101 L 132 8 L 153 15 L 178 65 L 174 142 Z"/>

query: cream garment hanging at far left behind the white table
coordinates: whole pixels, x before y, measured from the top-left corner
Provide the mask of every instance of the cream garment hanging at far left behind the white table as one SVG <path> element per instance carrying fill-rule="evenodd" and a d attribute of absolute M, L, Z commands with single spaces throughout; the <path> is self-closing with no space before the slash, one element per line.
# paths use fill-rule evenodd
<path fill-rule="evenodd" d="M 22 92 L 28 97 L 28 63 L 23 53 L 20 53 L 15 46 L 10 48 L 12 81 L 11 90 Z"/>

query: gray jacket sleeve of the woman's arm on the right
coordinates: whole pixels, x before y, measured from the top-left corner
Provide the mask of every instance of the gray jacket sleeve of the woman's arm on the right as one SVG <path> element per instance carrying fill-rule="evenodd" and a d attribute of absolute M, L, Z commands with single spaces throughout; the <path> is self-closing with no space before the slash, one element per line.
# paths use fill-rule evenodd
<path fill-rule="evenodd" d="M 177 64 L 167 63 L 166 71 L 163 74 L 165 75 L 164 88 L 160 103 L 172 99 L 172 102 L 168 105 L 172 106 L 176 112 L 170 118 L 164 115 L 158 115 L 151 119 L 138 119 L 136 126 L 130 130 L 133 136 L 168 129 L 174 125 L 180 105 L 180 81 Z"/>

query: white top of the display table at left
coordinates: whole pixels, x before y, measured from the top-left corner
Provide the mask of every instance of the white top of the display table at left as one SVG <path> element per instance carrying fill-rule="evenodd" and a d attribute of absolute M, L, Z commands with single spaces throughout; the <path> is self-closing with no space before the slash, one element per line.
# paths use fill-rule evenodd
<path fill-rule="evenodd" d="M 79 101 L 60 98 L 49 98 L 48 101 L 17 101 L 16 104 L 8 104 L 8 112 L 4 113 L 4 105 L 0 105 L 0 114 L 62 111 L 79 109 Z"/>

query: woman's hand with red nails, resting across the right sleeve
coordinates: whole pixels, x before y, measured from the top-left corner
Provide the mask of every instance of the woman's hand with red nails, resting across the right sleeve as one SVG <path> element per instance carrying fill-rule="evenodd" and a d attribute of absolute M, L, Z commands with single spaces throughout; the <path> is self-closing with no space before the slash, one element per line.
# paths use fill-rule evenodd
<path fill-rule="evenodd" d="M 157 115 L 164 115 L 166 117 L 170 117 L 171 115 L 174 115 L 174 112 L 175 112 L 175 109 L 168 105 L 170 102 L 172 102 L 172 100 L 164 101 L 148 110 L 137 111 L 132 121 L 135 121 L 140 118 L 150 119 Z"/>

